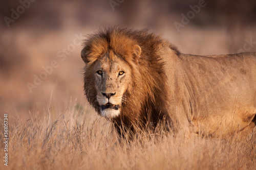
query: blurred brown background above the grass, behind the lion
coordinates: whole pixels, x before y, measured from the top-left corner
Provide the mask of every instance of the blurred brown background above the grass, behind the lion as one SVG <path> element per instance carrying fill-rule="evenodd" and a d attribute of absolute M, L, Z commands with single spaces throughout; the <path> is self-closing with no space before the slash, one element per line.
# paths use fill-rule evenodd
<path fill-rule="evenodd" d="M 0 18 L 0 112 L 14 118 L 91 109 L 80 51 L 102 26 L 149 28 L 182 53 L 256 51 L 256 2 L 249 0 L 9 0 L 0 2 Z"/>

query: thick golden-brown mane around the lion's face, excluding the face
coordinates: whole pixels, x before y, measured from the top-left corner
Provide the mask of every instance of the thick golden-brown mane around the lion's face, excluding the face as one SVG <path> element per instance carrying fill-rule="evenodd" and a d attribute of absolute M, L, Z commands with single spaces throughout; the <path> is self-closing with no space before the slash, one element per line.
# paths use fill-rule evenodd
<path fill-rule="evenodd" d="M 141 47 L 139 65 L 135 64 L 133 56 L 134 45 Z M 131 127 L 139 122 L 157 124 L 159 119 L 167 114 L 167 84 L 164 73 L 164 62 L 156 54 L 159 46 L 168 46 L 179 54 L 177 48 L 147 30 L 134 31 L 124 28 L 109 28 L 91 35 L 84 41 L 81 52 L 86 62 L 84 72 L 84 92 L 88 101 L 100 114 L 100 106 L 96 100 L 96 89 L 91 82 L 93 73 L 91 66 L 102 55 L 108 54 L 110 61 L 113 54 L 129 64 L 132 70 L 133 82 L 126 89 L 126 100 L 122 104 L 121 117 L 113 119 L 116 126 L 124 123 Z M 156 71 L 157 70 L 157 71 Z"/>

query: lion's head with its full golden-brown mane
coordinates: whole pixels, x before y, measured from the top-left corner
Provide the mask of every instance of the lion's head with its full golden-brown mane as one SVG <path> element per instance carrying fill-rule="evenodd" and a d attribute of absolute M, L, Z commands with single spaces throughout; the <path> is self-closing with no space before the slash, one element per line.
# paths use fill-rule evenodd
<path fill-rule="evenodd" d="M 147 31 L 112 28 L 84 41 L 84 92 L 98 114 L 124 122 L 157 120 L 167 113 L 165 41 Z M 157 71 L 156 71 L 157 70 Z"/>

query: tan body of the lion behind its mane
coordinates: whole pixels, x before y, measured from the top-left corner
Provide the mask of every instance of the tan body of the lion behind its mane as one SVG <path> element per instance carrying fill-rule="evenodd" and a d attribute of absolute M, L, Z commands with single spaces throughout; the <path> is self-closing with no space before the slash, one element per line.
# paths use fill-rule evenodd
<path fill-rule="evenodd" d="M 255 53 L 177 56 L 162 50 L 171 54 L 163 54 L 168 110 L 180 127 L 226 136 L 249 126 L 256 114 Z"/>

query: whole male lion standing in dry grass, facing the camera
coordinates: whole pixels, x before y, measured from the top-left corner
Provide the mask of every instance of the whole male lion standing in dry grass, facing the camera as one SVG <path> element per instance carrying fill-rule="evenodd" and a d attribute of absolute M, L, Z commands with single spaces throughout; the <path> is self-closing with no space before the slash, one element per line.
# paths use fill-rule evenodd
<path fill-rule="evenodd" d="M 81 57 L 87 99 L 119 133 L 166 122 L 225 137 L 255 126 L 255 53 L 182 54 L 146 30 L 115 27 L 85 40 Z"/>

